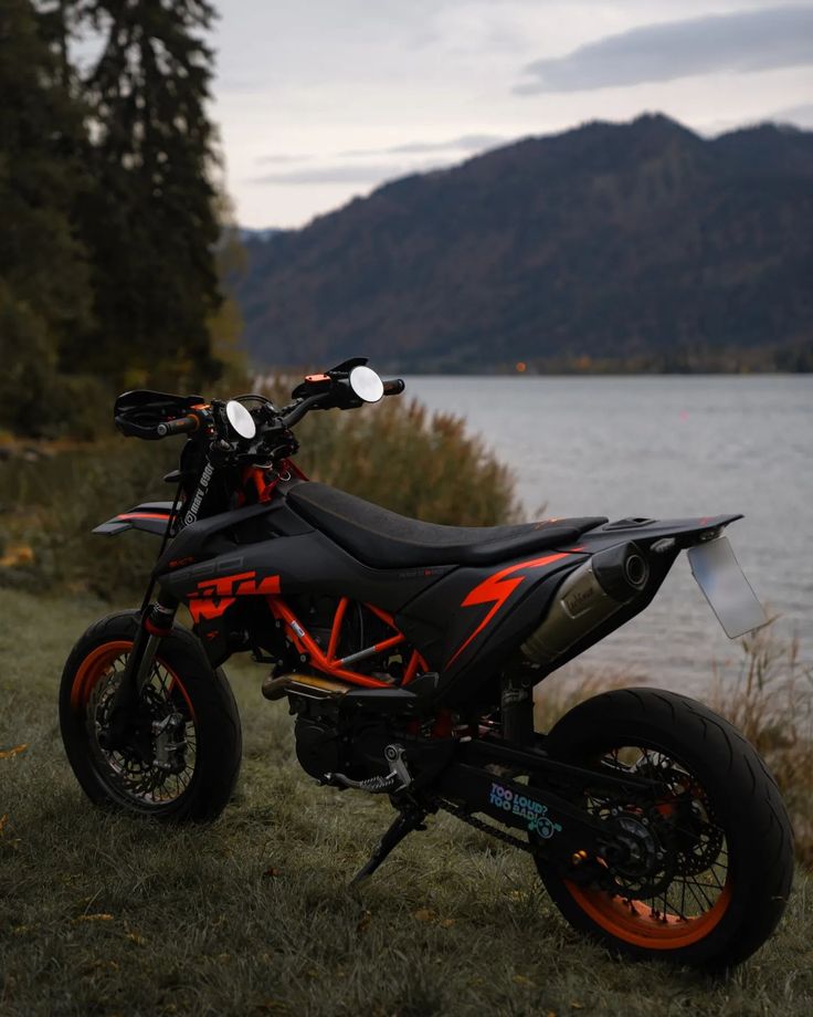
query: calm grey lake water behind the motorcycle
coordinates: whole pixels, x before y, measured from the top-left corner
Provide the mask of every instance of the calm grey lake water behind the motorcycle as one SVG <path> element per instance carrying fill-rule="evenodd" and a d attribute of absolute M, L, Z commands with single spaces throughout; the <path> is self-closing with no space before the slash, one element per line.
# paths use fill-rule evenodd
<path fill-rule="evenodd" d="M 483 436 L 529 520 L 743 513 L 727 531 L 739 563 L 781 615 L 778 637 L 813 661 L 813 376 L 416 376 L 406 395 Z M 580 662 L 699 693 L 712 662 L 732 680 L 741 658 L 682 555 L 651 607 Z"/>

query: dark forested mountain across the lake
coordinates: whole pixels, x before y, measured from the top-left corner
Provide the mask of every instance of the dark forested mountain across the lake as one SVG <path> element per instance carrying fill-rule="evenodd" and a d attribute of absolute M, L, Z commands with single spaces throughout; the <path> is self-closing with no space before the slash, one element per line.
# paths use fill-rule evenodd
<path fill-rule="evenodd" d="M 525 138 L 247 243 L 258 364 L 813 369 L 813 133 Z"/>

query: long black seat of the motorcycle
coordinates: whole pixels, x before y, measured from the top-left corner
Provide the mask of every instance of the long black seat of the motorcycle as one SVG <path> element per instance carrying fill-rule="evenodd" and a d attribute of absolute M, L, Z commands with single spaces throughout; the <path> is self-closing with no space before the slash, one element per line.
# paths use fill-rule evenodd
<path fill-rule="evenodd" d="M 490 565 L 548 547 L 567 547 L 605 517 L 519 526 L 439 526 L 380 508 L 313 481 L 288 490 L 288 503 L 337 544 L 377 568 Z"/>

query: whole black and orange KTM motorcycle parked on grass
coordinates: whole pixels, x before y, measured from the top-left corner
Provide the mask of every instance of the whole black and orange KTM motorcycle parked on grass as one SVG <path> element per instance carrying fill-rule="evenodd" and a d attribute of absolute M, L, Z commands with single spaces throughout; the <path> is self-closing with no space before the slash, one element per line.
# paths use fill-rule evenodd
<path fill-rule="evenodd" d="M 654 689 L 534 725 L 534 690 L 642 611 L 683 551 L 729 636 L 764 622 L 722 535 L 740 516 L 440 526 L 297 469 L 306 413 L 403 388 L 357 358 L 305 378 L 284 407 L 119 396 L 125 436 L 187 441 L 166 478 L 172 502 L 95 531 L 161 546 L 140 610 L 91 626 L 65 664 L 61 728 L 80 784 L 129 812 L 217 817 L 241 758 L 222 665 L 247 652 L 268 668 L 263 694 L 288 701 L 304 769 L 389 796 L 394 821 L 356 882 L 445 809 L 527 851 L 564 919 L 612 951 L 718 969 L 745 960 L 777 925 L 793 866 L 751 745 Z"/>

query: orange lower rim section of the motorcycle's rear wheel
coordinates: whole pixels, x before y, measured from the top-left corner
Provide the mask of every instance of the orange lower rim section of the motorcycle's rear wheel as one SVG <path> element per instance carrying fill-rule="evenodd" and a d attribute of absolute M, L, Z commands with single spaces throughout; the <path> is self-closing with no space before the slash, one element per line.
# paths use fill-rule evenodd
<path fill-rule="evenodd" d="M 707 936 L 722 920 L 731 902 L 731 880 L 708 911 L 691 918 L 654 912 L 643 901 L 564 881 L 570 895 L 596 925 L 616 940 L 646 950 L 679 950 Z"/>

